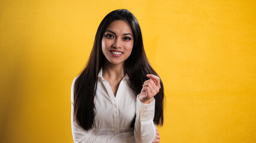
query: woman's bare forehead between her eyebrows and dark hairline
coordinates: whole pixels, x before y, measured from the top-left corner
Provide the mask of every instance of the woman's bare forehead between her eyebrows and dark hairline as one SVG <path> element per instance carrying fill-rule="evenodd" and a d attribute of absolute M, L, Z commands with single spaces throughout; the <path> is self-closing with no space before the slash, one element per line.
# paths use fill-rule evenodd
<path fill-rule="evenodd" d="M 132 33 L 129 23 L 124 20 L 115 20 L 107 26 L 106 30 L 112 30 L 115 33 Z"/>

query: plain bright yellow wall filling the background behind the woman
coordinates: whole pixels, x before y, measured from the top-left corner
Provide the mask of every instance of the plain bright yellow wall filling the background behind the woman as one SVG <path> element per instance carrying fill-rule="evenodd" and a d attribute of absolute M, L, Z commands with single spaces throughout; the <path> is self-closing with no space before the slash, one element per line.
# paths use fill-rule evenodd
<path fill-rule="evenodd" d="M 161 142 L 256 142 L 255 1 L 0 1 L 0 142 L 72 142 L 70 89 L 127 8 L 165 86 Z"/>

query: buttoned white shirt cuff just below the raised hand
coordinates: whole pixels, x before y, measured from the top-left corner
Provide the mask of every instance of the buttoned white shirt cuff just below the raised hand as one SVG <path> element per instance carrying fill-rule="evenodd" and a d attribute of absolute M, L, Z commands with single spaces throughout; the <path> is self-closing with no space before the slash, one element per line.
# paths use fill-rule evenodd
<path fill-rule="evenodd" d="M 144 104 L 137 96 L 136 113 L 140 122 L 153 120 L 153 117 L 155 116 L 155 98 L 151 98 L 149 104 Z"/>

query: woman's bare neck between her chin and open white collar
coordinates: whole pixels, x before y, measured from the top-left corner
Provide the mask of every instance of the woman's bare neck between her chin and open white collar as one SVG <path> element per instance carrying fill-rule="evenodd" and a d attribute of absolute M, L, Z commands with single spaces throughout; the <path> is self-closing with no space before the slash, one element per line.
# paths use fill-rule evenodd
<path fill-rule="evenodd" d="M 121 80 L 124 78 L 124 64 L 112 64 L 106 62 L 103 66 L 103 78 L 109 80 Z"/>

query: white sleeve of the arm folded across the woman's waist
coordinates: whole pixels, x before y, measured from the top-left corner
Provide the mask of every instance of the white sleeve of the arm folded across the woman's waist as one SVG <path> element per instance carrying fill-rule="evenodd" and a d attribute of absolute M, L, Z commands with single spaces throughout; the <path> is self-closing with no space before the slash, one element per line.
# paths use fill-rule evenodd
<path fill-rule="evenodd" d="M 76 77 L 77 78 L 77 77 Z M 71 129 L 73 140 L 75 143 L 114 143 L 114 142 L 125 142 L 132 143 L 134 141 L 133 132 L 119 133 L 118 135 L 92 135 L 77 125 L 76 120 L 74 120 L 74 82 L 73 80 L 71 87 Z"/>

